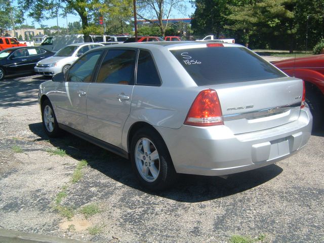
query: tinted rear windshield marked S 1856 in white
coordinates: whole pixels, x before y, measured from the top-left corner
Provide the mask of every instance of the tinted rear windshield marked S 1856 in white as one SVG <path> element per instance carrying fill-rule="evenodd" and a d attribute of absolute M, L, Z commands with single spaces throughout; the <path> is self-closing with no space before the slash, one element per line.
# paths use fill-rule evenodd
<path fill-rule="evenodd" d="M 242 47 L 171 50 L 198 86 L 246 82 L 286 75 Z"/>

